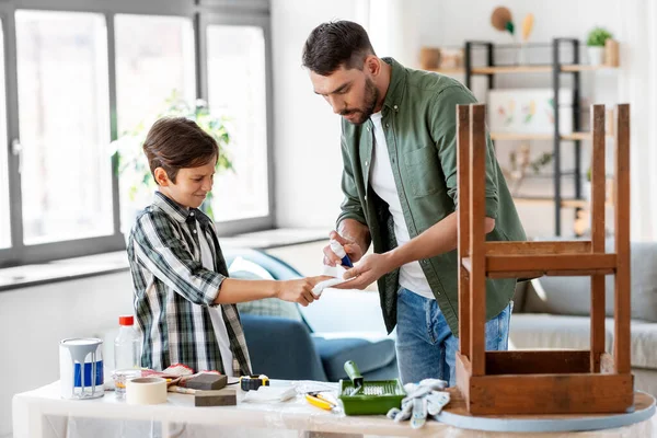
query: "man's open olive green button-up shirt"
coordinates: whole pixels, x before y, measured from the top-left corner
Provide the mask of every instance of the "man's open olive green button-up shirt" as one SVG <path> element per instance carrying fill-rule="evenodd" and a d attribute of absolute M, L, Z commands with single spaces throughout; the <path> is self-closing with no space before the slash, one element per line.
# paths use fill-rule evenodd
<path fill-rule="evenodd" d="M 382 126 L 394 182 L 411 239 L 452 214 L 457 208 L 457 105 L 476 103 L 472 93 L 454 79 L 405 68 L 392 58 Z M 396 246 L 392 216 L 369 184 L 372 161 L 371 119 L 353 125 L 343 119 L 342 188 L 345 200 L 337 223 L 355 219 L 371 233 L 374 252 Z M 505 182 L 493 143 L 486 155 L 486 216 L 495 219 L 489 241 L 526 240 L 514 200 Z M 458 336 L 457 251 L 420 260 L 427 281 L 452 333 Z M 399 269 L 378 281 L 383 319 L 389 333 L 396 325 Z M 497 315 L 514 296 L 516 279 L 486 279 L 486 320 Z"/>

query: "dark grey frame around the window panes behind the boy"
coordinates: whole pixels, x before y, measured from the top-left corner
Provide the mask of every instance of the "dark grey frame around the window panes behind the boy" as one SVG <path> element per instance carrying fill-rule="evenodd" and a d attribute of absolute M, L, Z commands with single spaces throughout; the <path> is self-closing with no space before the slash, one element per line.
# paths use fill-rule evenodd
<path fill-rule="evenodd" d="M 100 13 L 105 18 L 107 28 L 107 76 L 110 105 L 110 140 L 117 138 L 117 95 L 116 95 L 116 47 L 114 18 L 116 14 L 142 14 L 160 16 L 181 16 L 192 20 L 195 36 L 195 76 L 196 96 L 207 100 L 207 41 L 206 28 L 211 24 L 256 25 L 263 28 L 265 35 L 265 71 L 266 71 L 266 118 L 267 118 L 267 174 L 268 174 L 268 215 L 219 222 L 221 235 L 232 235 L 242 232 L 258 231 L 274 228 L 274 165 L 273 165 L 273 101 L 272 101 L 272 41 L 270 41 L 270 8 L 268 0 L 158 0 L 157 2 L 134 0 L 9 0 L 0 1 L 0 20 L 2 20 L 4 42 L 4 78 L 7 90 L 7 138 L 9 168 L 9 203 L 10 203 L 10 237 L 11 246 L 0 250 L 0 268 L 25 264 L 47 263 L 50 261 L 79 257 L 124 251 L 125 237 L 120 232 L 120 206 L 117 160 L 112 158 L 112 201 L 114 230 L 112 235 L 65 240 L 34 245 L 23 243 L 23 206 L 21 198 L 21 175 L 19 173 L 19 154 L 14 153 L 15 139 L 20 139 L 19 129 L 19 96 L 18 96 L 18 51 L 15 32 L 16 10 L 41 10 L 60 12 Z M 20 140 L 19 140 L 20 141 Z M 20 143 L 20 142 L 19 142 Z"/>

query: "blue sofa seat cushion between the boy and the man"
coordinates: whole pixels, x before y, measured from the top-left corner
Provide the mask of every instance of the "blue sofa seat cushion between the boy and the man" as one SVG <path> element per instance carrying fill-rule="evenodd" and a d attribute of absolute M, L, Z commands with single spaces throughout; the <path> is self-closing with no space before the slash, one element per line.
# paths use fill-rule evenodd
<path fill-rule="evenodd" d="M 313 338 L 330 381 L 347 378 L 344 369 L 347 360 L 354 360 L 364 376 L 395 360 L 394 342 L 390 338 L 377 342 L 359 337 L 330 338 L 318 335 L 313 335 Z"/>

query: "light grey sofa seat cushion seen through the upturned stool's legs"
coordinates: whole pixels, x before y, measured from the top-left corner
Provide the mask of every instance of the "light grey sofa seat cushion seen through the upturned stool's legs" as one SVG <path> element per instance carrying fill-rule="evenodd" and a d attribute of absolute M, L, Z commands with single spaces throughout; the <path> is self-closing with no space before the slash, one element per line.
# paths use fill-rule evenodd
<path fill-rule="evenodd" d="M 604 324 L 604 349 L 613 351 L 613 318 Z M 657 370 L 657 324 L 631 322 L 632 367 Z M 588 316 L 520 313 L 511 316 L 509 349 L 589 349 Z"/>

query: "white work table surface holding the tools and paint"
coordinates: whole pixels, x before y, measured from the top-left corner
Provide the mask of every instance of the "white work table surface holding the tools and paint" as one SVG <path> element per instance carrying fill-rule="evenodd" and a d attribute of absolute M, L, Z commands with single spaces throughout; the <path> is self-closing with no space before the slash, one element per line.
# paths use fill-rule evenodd
<path fill-rule="evenodd" d="M 289 382 L 274 381 L 275 385 Z M 66 433 L 57 431 L 53 417 L 60 417 L 59 423 L 69 427 L 68 436 L 90 433 L 71 430 L 71 424 L 79 427 L 93 425 L 99 431 L 93 438 L 101 438 L 103 433 L 119 429 L 119 425 L 140 420 L 146 424 L 161 424 L 161 436 L 164 437 L 372 437 L 372 436 L 413 436 L 413 437 L 476 437 L 502 438 L 510 434 L 485 433 L 458 429 L 436 420 L 428 420 L 424 428 L 411 429 L 408 422 L 395 424 L 384 416 L 345 416 L 320 410 L 298 395 L 287 402 L 254 403 L 243 402 L 243 393 L 238 391 L 237 406 L 195 407 L 193 397 L 184 394 L 169 393 L 168 402 L 159 405 L 134 406 L 117 400 L 113 392 L 95 400 L 62 400 L 59 396 L 59 382 L 16 394 L 13 397 L 13 436 L 14 438 L 51 438 L 66 437 Z M 188 427 L 178 434 L 182 426 L 198 425 L 194 431 Z M 158 425 L 159 426 L 159 425 Z M 65 426 L 66 427 L 66 426 Z M 74 429 L 74 428 L 73 428 Z M 93 429 L 93 428 L 92 428 Z M 159 427 L 154 436 L 160 436 Z M 66 431 L 66 429 L 64 429 Z M 91 430 L 91 429 L 89 429 Z M 122 430 L 126 430 L 123 428 Z M 205 433 L 205 435 L 204 435 Z M 112 433 L 107 436 L 123 436 Z M 520 435 L 512 435 L 520 436 Z M 527 435 L 522 435 L 527 436 Z M 556 437 L 656 437 L 657 416 L 632 426 L 577 434 L 535 434 L 541 438 Z"/>

